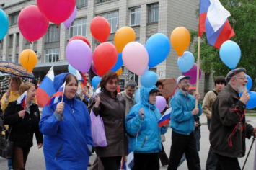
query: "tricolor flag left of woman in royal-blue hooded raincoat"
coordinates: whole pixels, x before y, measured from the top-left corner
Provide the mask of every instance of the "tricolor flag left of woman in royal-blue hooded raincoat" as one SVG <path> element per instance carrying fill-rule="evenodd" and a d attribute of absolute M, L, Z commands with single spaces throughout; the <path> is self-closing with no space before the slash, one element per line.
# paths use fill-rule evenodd
<path fill-rule="evenodd" d="M 55 93 L 53 79 L 54 71 L 52 66 L 36 91 L 37 103 L 40 104 L 41 107 L 43 107 Z"/>

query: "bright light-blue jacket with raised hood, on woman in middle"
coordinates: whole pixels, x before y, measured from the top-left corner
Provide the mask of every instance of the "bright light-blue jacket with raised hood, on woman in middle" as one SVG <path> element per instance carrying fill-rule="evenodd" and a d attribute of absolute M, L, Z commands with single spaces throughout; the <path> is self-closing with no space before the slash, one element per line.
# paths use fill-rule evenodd
<path fill-rule="evenodd" d="M 125 118 L 125 128 L 130 136 L 129 149 L 135 153 L 158 153 L 162 150 L 161 134 L 168 128 L 159 128 L 158 120 L 161 118 L 156 104 L 149 103 L 149 91 L 156 89 L 141 87 L 141 102 L 133 106 Z M 144 109 L 144 120 L 138 115 L 141 107 Z M 136 134 L 138 133 L 138 137 Z"/>

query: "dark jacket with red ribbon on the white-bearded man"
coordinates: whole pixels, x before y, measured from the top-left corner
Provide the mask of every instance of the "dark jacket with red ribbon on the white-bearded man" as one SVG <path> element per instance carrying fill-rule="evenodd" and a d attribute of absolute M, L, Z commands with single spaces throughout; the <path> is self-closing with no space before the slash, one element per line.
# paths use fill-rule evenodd
<path fill-rule="evenodd" d="M 245 138 L 250 138 L 253 132 L 252 125 L 245 122 L 245 107 L 230 85 L 219 93 L 213 103 L 210 128 L 210 143 L 215 153 L 231 158 L 244 156 Z M 233 130 L 236 131 L 231 135 Z"/>

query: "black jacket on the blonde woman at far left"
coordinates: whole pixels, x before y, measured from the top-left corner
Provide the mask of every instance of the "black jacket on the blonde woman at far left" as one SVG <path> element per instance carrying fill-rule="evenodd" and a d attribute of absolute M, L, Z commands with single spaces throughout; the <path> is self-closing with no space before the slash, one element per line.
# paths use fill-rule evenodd
<path fill-rule="evenodd" d="M 33 146 L 33 135 L 38 143 L 43 143 L 43 135 L 39 131 L 40 112 L 37 104 L 30 106 L 30 114 L 25 113 L 25 117 L 19 117 L 18 112 L 23 110 L 17 101 L 10 102 L 4 111 L 4 124 L 12 128 L 9 140 L 14 142 L 15 146 L 27 148 Z"/>

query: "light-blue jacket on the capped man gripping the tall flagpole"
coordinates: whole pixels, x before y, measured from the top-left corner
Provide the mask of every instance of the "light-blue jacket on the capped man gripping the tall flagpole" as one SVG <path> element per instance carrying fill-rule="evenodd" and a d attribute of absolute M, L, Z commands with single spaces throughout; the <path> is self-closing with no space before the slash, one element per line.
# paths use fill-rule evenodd
<path fill-rule="evenodd" d="M 172 107 L 171 113 L 171 128 L 175 133 L 182 135 L 190 135 L 195 130 L 195 119 L 192 115 L 193 109 L 195 109 L 195 97 L 190 94 L 183 94 L 182 91 L 177 91 L 174 97 L 172 97 L 169 106 Z M 202 115 L 202 107 L 198 102 L 198 115 Z"/>

